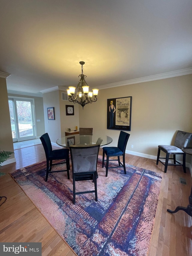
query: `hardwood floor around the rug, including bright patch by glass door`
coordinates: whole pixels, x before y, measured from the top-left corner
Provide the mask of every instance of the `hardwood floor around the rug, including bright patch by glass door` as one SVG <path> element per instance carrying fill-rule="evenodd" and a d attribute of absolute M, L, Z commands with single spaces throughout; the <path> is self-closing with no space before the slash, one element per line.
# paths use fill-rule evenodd
<path fill-rule="evenodd" d="M 57 148 L 53 146 L 53 149 Z M 14 152 L 16 163 L 0 169 L 6 173 L 0 177 L 0 196 L 7 197 L 0 207 L 0 242 L 41 242 L 43 256 L 76 255 L 8 174 L 45 160 L 43 146 L 30 146 Z M 102 149 L 99 154 L 102 155 Z M 192 217 L 184 211 L 175 214 L 167 212 L 167 209 L 174 210 L 178 205 L 188 205 L 192 185 L 189 169 L 187 168 L 187 173 L 183 173 L 182 167 L 169 166 L 167 173 L 164 173 L 164 166 L 161 163 L 157 166 L 155 160 L 128 154 L 125 160 L 128 164 L 162 173 L 161 192 L 148 255 L 192 256 Z M 179 182 L 180 177 L 186 179 L 187 185 Z"/>

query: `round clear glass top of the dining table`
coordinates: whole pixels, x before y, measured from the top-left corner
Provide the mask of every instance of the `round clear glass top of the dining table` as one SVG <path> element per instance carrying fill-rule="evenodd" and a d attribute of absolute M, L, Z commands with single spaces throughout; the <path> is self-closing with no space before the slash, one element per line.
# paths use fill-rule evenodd
<path fill-rule="evenodd" d="M 69 147 L 70 145 L 93 145 L 99 143 L 100 146 L 110 144 L 113 139 L 103 134 L 73 134 L 59 138 L 56 143 L 59 146 Z"/>

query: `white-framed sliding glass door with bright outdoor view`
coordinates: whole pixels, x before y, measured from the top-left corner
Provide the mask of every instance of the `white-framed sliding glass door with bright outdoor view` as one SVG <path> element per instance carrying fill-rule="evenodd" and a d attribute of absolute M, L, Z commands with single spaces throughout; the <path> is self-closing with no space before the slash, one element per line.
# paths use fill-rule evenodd
<path fill-rule="evenodd" d="M 33 100 L 9 97 L 13 142 L 35 139 Z"/>

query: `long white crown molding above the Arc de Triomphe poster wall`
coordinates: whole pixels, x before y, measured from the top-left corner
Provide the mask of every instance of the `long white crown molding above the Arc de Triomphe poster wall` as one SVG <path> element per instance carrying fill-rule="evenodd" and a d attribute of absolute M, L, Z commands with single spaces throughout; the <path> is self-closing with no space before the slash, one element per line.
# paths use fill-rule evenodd
<path fill-rule="evenodd" d="M 124 85 L 135 84 L 135 83 L 144 83 L 144 82 L 161 80 L 161 79 L 166 79 L 166 78 L 171 78 L 171 77 L 179 77 L 179 76 L 184 76 L 184 75 L 189 75 L 189 74 L 192 74 L 192 68 L 185 68 L 185 69 L 180 69 L 180 70 L 171 71 L 171 72 L 167 72 L 167 73 L 152 75 L 152 76 L 148 76 L 148 77 L 140 77 L 140 78 L 131 79 L 131 80 L 127 80 L 127 81 L 105 84 L 105 85 L 97 86 L 97 88 L 100 90 L 108 89 L 108 88 L 112 88 L 112 87 L 124 86 Z"/>

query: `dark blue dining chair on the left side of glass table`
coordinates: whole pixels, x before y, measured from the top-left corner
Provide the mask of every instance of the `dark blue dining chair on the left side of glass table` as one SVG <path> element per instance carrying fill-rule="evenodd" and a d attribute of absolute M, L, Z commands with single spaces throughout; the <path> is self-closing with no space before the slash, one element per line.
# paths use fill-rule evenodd
<path fill-rule="evenodd" d="M 40 137 L 40 140 L 43 144 L 45 155 L 46 155 L 46 177 L 45 181 L 48 179 L 49 173 L 56 173 L 56 172 L 67 172 L 67 178 L 69 179 L 69 169 L 70 169 L 70 162 L 69 162 L 69 149 L 55 149 L 52 150 L 51 140 L 49 138 L 49 134 L 45 133 Z M 51 171 L 52 160 L 64 160 L 59 164 L 66 164 L 66 170 L 59 170 L 59 171 Z M 50 164 L 49 164 L 50 162 Z"/>

